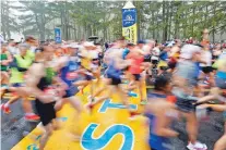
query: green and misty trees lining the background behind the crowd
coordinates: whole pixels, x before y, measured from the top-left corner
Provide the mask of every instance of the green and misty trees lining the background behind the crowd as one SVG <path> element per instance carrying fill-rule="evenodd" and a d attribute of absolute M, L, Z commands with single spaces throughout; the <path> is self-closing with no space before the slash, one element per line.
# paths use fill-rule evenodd
<path fill-rule="evenodd" d="M 2 29 L 23 30 L 40 38 L 53 35 L 60 26 L 64 39 L 81 39 L 96 35 L 115 39 L 121 35 L 121 9 L 124 1 L 20 1 L 22 5 L 1 2 Z M 201 39 L 203 28 L 211 33 L 226 29 L 226 2 L 224 1 L 133 1 L 138 9 L 140 37 L 167 40 L 194 37 Z M 9 9 L 23 15 L 10 16 Z M 148 34 L 147 34 L 148 33 Z"/>

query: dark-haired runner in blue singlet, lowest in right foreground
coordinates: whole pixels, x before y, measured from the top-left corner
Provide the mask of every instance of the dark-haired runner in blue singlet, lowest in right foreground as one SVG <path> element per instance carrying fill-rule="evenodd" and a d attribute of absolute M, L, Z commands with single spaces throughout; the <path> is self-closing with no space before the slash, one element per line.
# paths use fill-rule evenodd
<path fill-rule="evenodd" d="M 145 107 L 145 115 L 150 118 L 148 143 L 152 150 L 171 150 L 170 138 L 179 134 L 169 127 L 171 117 L 177 117 L 176 105 L 167 102 L 167 95 L 171 91 L 170 80 L 158 76 L 154 87 Z"/>

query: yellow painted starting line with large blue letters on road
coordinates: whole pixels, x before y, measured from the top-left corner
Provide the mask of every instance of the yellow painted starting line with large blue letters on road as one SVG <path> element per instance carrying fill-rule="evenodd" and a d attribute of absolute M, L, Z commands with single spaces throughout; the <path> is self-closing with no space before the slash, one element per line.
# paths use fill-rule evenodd
<path fill-rule="evenodd" d="M 83 103 L 87 102 L 88 89 L 84 89 L 85 96 L 81 92 L 76 95 Z M 142 90 L 146 96 L 145 86 Z M 130 103 L 131 109 L 136 112 L 143 111 L 139 97 L 131 97 Z M 145 117 L 135 116 L 133 121 L 129 120 L 128 110 L 121 104 L 117 93 L 95 105 L 92 114 L 83 111 L 81 120 L 74 114 L 76 112 L 69 104 L 58 113 L 61 129 L 53 132 L 45 150 L 150 150 L 146 142 L 148 127 Z M 81 140 L 72 140 L 69 132 L 82 135 Z M 36 127 L 12 150 L 38 150 L 41 133 L 41 129 Z"/>

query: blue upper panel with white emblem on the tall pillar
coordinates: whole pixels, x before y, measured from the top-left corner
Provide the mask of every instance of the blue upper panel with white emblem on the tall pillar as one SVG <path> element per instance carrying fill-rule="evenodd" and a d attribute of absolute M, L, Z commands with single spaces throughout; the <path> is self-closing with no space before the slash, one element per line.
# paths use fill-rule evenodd
<path fill-rule="evenodd" d="M 136 9 L 122 9 L 122 27 L 129 27 L 136 23 Z"/>

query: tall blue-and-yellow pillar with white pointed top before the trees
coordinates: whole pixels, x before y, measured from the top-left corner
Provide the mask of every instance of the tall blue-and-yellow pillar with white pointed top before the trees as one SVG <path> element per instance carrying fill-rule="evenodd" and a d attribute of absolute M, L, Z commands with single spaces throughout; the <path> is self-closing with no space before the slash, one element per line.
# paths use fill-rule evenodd
<path fill-rule="evenodd" d="M 122 36 L 130 42 L 138 42 L 136 9 L 128 1 L 122 8 Z"/>

